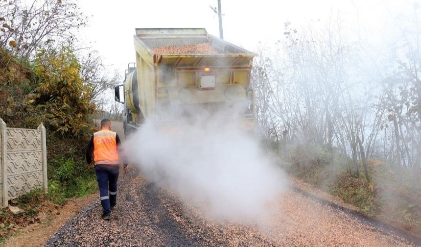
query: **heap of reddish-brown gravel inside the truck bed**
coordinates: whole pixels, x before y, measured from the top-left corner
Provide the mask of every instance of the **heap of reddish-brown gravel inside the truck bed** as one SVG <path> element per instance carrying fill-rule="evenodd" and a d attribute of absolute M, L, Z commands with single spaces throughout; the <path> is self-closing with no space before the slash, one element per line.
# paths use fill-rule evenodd
<path fill-rule="evenodd" d="M 219 52 L 209 43 L 186 46 L 166 46 L 152 49 L 161 55 L 181 55 L 181 54 L 218 54 Z"/>

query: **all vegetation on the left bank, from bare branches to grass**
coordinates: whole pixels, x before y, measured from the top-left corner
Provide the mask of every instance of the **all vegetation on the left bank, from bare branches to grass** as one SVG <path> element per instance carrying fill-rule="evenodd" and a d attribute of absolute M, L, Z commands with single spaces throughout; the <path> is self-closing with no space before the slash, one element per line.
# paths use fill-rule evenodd
<path fill-rule="evenodd" d="M 72 44 L 76 29 L 84 24 L 72 1 L 0 3 L 0 117 L 9 127 L 37 128 L 44 123 L 48 162 L 48 193 L 34 190 L 14 200 L 12 204 L 24 212 L 14 216 L 0 210 L 1 221 L 28 218 L 46 210 L 50 201 L 64 204 L 68 198 L 97 189 L 94 172 L 83 161 L 94 126 L 92 90 L 84 84 L 80 75 L 84 73 L 70 47 L 57 49 L 57 44 Z M 35 54 L 40 48 L 45 49 Z M 92 76 L 96 73 L 93 70 Z M 0 237 L 0 242 L 5 239 Z"/>

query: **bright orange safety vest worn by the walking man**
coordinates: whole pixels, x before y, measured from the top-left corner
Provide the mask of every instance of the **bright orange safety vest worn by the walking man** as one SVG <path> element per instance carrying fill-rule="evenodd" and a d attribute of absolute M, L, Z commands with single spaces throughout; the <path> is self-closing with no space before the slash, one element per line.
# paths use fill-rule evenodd
<path fill-rule="evenodd" d="M 94 133 L 95 165 L 118 165 L 116 132 L 100 130 Z"/>

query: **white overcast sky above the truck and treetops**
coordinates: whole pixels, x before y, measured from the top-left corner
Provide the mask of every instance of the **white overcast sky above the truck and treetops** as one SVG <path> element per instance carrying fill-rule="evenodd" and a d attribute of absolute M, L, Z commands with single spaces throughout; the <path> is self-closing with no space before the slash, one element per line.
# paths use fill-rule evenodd
<path fill-rule="evenodd" d="M 221 0 L 224 38 L 256 51 L 258 42 L 271 46 L 283 37 L 283 23 L 304 27 L 340 16 L 352 32 L 362 30 L 367 39 L 379 39 L 391 16 L 410 9 L 411 0 Z M 209 7 L 217 0 L 79 0 L 89 17 L 80 33 L 84 46 L 99 51 L 109 68 L 121 71 L 135 60 L 136 27 L 204 27 L 219 35 L 218 17 Z M 318 21 L 320 20 L 320 21 Z"/>

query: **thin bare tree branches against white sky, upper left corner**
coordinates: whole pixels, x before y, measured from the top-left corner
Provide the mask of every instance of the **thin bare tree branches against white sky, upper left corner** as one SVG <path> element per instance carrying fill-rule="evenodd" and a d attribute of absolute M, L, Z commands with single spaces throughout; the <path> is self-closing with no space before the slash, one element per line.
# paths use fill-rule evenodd
<path fill-rule="evenodd" d="M 36 49 L 72 44 L 86 17 L 72 1 L 10 0 L 0 3 L 0 47 L 29 58 Z"/>

